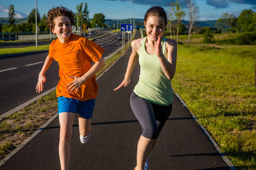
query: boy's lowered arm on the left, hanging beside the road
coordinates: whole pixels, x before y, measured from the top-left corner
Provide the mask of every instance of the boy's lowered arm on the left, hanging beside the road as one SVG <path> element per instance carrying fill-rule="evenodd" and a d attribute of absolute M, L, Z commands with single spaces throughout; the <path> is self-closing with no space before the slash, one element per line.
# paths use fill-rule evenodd
<path fill-rule="evenodd" d="M 46 82 L 46 71 L 48 70 L 48 68 L 50 67 L 50 64 L 53 63 L 53 58 L 50 58 L 49 55 L 46 57 L 46 61 L 43 64 L 43 68 L 41 69 L 41 72 L 39 72 L 38 75 L 38 84 L 36 85 L 36 92 L 38 92 L 38 94 L 43 91 L 43 83 Z"/>

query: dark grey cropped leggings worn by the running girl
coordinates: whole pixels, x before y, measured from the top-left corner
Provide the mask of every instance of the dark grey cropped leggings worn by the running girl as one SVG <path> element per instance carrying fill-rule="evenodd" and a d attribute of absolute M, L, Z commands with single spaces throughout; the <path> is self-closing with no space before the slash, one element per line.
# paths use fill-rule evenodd
<path fill-rule="evenodd" d="M 142 125 L 142 136 L 151 140 L 156 139 L 171 115 L 172 104 L 161 106 L 151 103 L 134 92 L 131 95 L 130 104 L 134 115 Z"/>

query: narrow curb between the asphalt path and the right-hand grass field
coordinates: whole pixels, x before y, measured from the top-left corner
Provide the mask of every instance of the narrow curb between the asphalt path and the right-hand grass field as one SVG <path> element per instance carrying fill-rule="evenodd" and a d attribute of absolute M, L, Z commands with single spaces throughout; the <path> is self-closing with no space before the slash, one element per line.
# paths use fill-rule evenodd
<path fill-rule="evenodd" d="M 199 123 L 198 118 L 196 118 L 196 115 L 194 115 L 191 111 L 189 111 L 188 106 L 186 105 L 185 101 L 183 101 L 183 99 L 181 98 L 181 96 L 179 96 L 177 93 L 174 93 L 177 97 L 178 100 L 181 101 L 182 105 L 184 106 L 184 108 L 186 108 L 186 110 L 188 111 L 188 113 L 191 114 L 193 120 L 195 120 L 195 122 L 198 124 L 199 128 L 201 128 L 201 130 L 203 131 L 203 134 L 206 135 L 206 137 L 208 138 L 208 140 L 210 141 L 210 143 L 213 145 L 213 147 L 216 149 L 216 151 L 218 152 L 218 154 L 220 155 L 220 157 L 223 159 L 223 161 L 225 162 L 225 164 L 228 165 L 228 167 L 231 170 L 237 170 L 235 168 L 235 166 L 232 164 L 232 162 L 230 161 L 230 159 L 228 159 L 227 155 L 225 155 L 222 151 L 222 149 L 220 148 L 220 146 L 218 145 L 218 143 L 213 139 L 213 137 L 210 136 L 210 133 L 206 130 L 206 128 L 203 127 L 203 125 L 201 125 L 201 123 Z"/>

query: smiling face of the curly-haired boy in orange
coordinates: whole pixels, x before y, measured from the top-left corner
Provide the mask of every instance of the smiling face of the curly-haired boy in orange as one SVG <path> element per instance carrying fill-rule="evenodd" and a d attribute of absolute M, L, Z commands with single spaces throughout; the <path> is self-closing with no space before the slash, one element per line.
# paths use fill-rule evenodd
<path fill-rule="evenodd" d="M 70 19 L 67 16 L 58 16 L 54 19 L 53 33 L 57 35 L 61 43 L 67 42 L 72 33 Z"/>

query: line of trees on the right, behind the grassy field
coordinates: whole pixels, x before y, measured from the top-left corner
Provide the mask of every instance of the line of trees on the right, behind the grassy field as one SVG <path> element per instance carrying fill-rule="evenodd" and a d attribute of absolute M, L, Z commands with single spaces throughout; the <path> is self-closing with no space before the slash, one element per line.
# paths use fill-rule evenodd
<path fill-rule="evenodd" d="M 196 26 L 198 21 L 199 8 L 191 1 L 187 1 L 186 8 L 184 4 L 179 4 L 178 0 L 167 6 L 169 25 L 166 27 L 166 34 L 178 42 L 179 34 L 187 34 L 190 41 L 191 35 L 201 33 L 206 42 L 213 42 L 213 31 L 215 33 L 242 33 L 240 38 L 251 37 L 251 41 L 256 43 L 256 13 L 251 9 L 244 9 L 240 16 L 235 17 L 233 13 L 223 13 L 215 23 L 215 28 L 199 28 Z M 185 26 L 181 21 L 188 16 L 188 24 Z"/>

